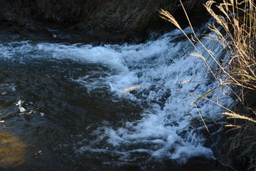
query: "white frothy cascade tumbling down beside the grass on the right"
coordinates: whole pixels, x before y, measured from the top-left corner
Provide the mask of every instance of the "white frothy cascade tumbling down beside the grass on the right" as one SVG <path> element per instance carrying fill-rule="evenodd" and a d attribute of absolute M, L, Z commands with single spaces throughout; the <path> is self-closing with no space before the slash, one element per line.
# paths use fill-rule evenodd
<path fill-rule="evenodd" d="M 213 159 L 212 150 L 203 146 L 206 139 L 195 132 L 196 128 L 190 128 L 191 121 L 193 118 L 201 120 L 198 112 L 205 121 L 218 120 L 221 118 L 219 114 L 223 109 L 204 99 L 197 102 L 198 109 L 190 104 L 198 98 L 194 94 L 206 94 L 218 87 L 218 82 L 214 80 L 205 82 L 213 78 L 209 77 L 204 61 L 187 55 L 188 52 L 197 53 L 196 50 L 193 50 L 185 40 L 171 43 L 173 39 L 170 37 L 171 33 L 159 40 L 140 45 L 112 46 L 122 54 L 130 72 L 107 77 L 111 90 L 118 92 L 124 85 L 131 87 L 134 80 L 132 86 L 144 86 L 145 88 L 138 92 L 149 92 L 146 101 L 156 101 L 156 104 L 155 102 L 151 104 L 152 109 L 145 111 L 142 120 L 128 122 L 122 128 L 105 128 L 102 136 L 107 138 L 107 143 L 114 147 L 149 143 L 154 148 L 149 147 L 140 151 L 147 151 L 154 158 L 170 158 L 178 162 L 186 162 L 188 158 L 196 156 Z M 208 48 L 213 48 L 212 51 L 216 57 L 222 53 L 223 49 L 218 43 L 213 44 L 210 40 L 203 40 L 203 43 L 208 45 Z M 214 66 L 213 59 L 210 59 L 202 48 L 198 48 L 208 59 L 209 64 Z M 151 85 L 159 86 L 160 89 L 148 90 Z M 166 92 L 171 92 L 171 95 L 166 96 L 164 106 L 161 107 L 157 101 L 161 101 L 161 96 L 165 96 Z M 131 98 L 125 95 L 124 97 Z M 223 97 L 226 96 L 222 93 L 222 89 L 217 89 L 209 98 L 216 101 Z M 232 99 L 228 98 L 218 102 L 225 106 L 231 104 L 231 101 Z M 201 129 L 206 129 L 203 123 L 201 123 Z M 127 153 L 131 151 L 127 150 Z"/>

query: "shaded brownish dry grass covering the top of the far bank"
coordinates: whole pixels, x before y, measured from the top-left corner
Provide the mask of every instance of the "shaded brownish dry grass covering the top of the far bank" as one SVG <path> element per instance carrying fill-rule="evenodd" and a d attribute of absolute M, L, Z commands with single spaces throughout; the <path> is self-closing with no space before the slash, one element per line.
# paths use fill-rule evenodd
<path fill-rule="evenodd" d="M 200 6 L 205 0 L 186 0 L 186 9 Z M 106 28 L 114 32 L 144 31 L 162 20 L 157 10 L 174 13 L 178 0 L 2 0 L 0 21 L 8 19 L 19 23 L 26 17 L 36 17 L 60 23 L 73 23 L 87 28 Z"/>

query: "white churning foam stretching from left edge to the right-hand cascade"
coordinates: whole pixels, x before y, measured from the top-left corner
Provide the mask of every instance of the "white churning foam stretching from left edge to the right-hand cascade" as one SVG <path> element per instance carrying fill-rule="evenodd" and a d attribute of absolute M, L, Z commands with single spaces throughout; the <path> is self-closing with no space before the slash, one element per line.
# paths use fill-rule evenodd
<path fill-rule="evenodd" d="M 188 30 L 189 32 L 189 30 Z M 175 38 L 181 37 L 176 42 Z M 217 57 L 220 57 L 222 48 L 212 40 L 203 40 L 203 43 L 212 48 Z M 79 79 L 88 91 L 108 86 L 108 90 L 117 94 L 120 99 L 127 98 L 132 101 L 146 101 L 149 109 L 142 113 L 139 121 L 127 122 L 120 128 L 112 128 L 102 123 L 103 133 L 96 130 L 98 140 L 105 140 L 112 149 L 99 149 L 94 145 L 79 148 L 80 153 L 90 150 L 94 153 L 119 153 L 123 160 L 129 160 L 130 153 L 148 153 L 154 158 L 170 158 L 178 162 L 186 162 L 188 158 L 204 156 L 214 158 L 212 150 L 204 147 L 205 138 L 200 132 L 191 126 L 193 119 L 200 121 L 200 112 L 206 121 L 220 119 L 219 113 L 223 109 L 210 101 L 201 99 L 196 103 L 198 109 L 191 102 L 198 95 L 206 94 L 218 87 L 218 82 L 208 74 L 208 69 L 201 58 L 193 57 L 188 53 L 197 53 L 193 46 L 183 38 L 180 31 L 168 33 L 158 40 L 149 41 L 139 45 L 104 45 L 94 47 L 92 45 L 68 45 L 61 43 L 21 43 L 11 45 L 11 48 L 1 45 L 1 57 L 15 57 L 16 53 L 22 53 L 26 57 L 43 57 L 46 59 L 69 59 L 82 64 L 97 64 L 110 68 L 105 77 L 97 79 L 92 75 L 84 75 Z M 208 59 L 210 65 L 215 67 L 213 59 L 203 51 L 199 45 L 201 54 Z M 36 52 L 36 53 L 35 53 Z M 22 60 L 23 60 L 22 59 Z M 112 71 L 114 70 L 114 72 Z M 93 85 L 93 86 L 92 86 Z M 133 94 L 119 94 L 122 89 L 143 86 Z M 89 89 L 90 87 L 90 89 Z M 190 94 L 191 92 L 193 94 Z M 219 99 L 223 106 L 231 104 L 232 99 L 223 99 L 222 89 L 217 89 L 208 98 L 213 101 Z M 17 104 L 21 107 L 21 104 Z M 151 106 L 151 107 L 150 107 Z M 201 129 L 203 123 L 201 123 Z M 99 128 L 99 129 L 102 129 Z M 198 129 L 199 130 L 199 129 Z M 147 144 L 147 148 L 140 148 Z M 132 144 L 139 144 L 133 146 Z M 125 147 L 124 150 L 120 147 Z M 110 152 L 112 151 L 112 152 Z"/>

